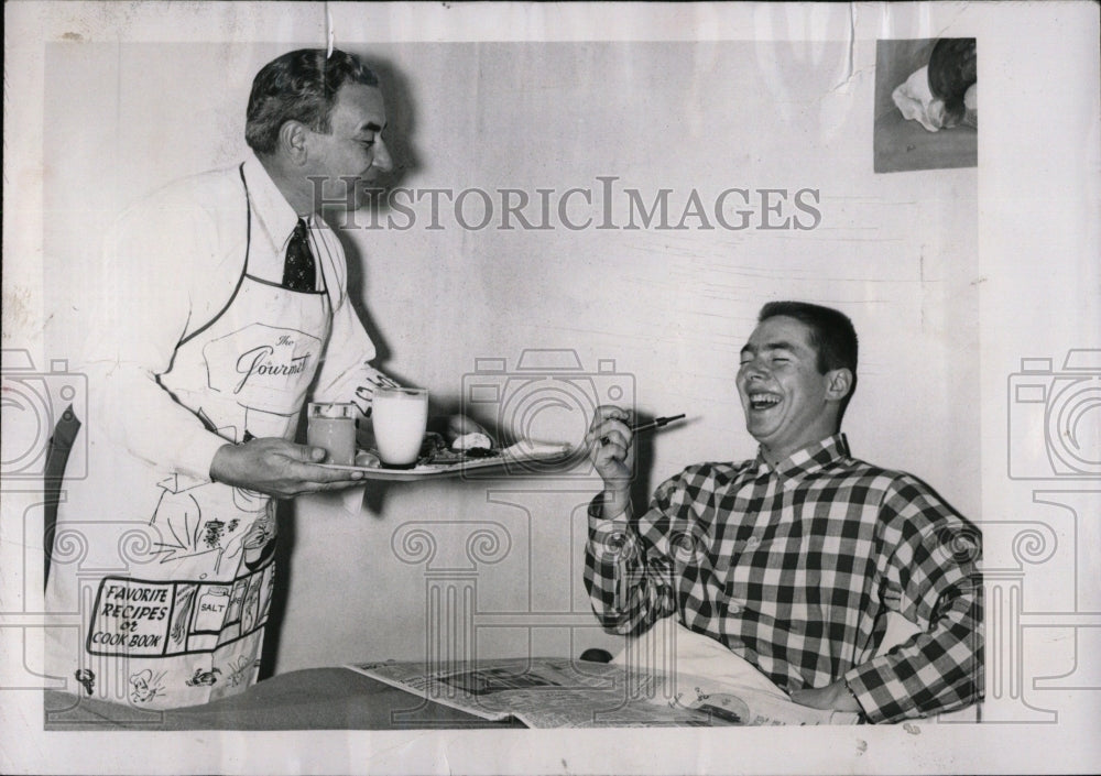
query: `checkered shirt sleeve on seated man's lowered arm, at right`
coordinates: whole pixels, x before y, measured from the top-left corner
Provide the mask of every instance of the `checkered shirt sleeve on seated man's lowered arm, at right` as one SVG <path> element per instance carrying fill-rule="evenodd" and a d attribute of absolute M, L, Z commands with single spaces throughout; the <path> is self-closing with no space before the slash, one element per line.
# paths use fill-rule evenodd
<path fill-rule="evenodd" d="M 924 633 L 844 679 L 872 722 L 950 711 L 982 695 L 982 537 L 919 481 L 903 477 L 880 507 L 891 609 Z"/>

